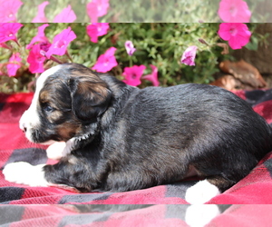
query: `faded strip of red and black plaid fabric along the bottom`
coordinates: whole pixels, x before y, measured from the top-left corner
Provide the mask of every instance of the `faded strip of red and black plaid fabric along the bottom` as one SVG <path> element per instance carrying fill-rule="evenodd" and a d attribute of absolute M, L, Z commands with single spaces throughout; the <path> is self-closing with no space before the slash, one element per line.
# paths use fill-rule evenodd
<path fill-rule="evenodd" d="M 204 205 L 202 212 L 194 213 L 193 220 L 205 220 L 203 212 L 210 205 Z M 224 226 L 271 226 L 272 205 L 218 205 L 219 213 L 209 217 L 210 227 Z M 189 226 L 187 211 L 189 205 L 157 204 L 151 206 L 133 205 L 0 205 L 0 225 L 21 226 Z M 204 210 L 204 211 L 203 211 Z M 206 213 L 207 214 L 207 213 Z M 187 221 L 187 222 L 186 222 Z M 192 225 L 203 226 L 203 225 Z"/>

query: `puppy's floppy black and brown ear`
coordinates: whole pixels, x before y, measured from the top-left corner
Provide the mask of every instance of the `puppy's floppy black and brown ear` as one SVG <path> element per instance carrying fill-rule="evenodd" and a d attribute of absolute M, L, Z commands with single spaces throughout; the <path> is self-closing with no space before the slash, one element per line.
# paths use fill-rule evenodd
<path fill-rule="evenodd" d="M 71 77 L 73 114 L 82 121 L 92 122 L 103 114 L 112 98 L 108 85 L 96 75 Z"/>

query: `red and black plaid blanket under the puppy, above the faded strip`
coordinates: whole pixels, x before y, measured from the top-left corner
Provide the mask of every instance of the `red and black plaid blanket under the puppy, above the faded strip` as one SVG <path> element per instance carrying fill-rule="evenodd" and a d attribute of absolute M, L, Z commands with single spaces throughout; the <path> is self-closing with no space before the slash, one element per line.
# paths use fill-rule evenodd
<path fill-rule="evenodd" d="M 272 125 L 272 90 L 238 91 L 238 96 Z M 196 183 L 184 181 L 132 192 L 75 193 L 54 187 L 29 187 L 8 183 L 2 170 L 6 163 L 24 161 L 32 164 L 53 163 L 47 159 L 45 146 L 29 143 L 18 128 L 18 121 L 28 108 L 33 94 L 0 94 L 0 203 L 2 204 L 186 204 L 184 195 Z M 272 153 L 239 183 L 207 203 L 272 204 Z M 21 207 L 21 206 L 20 206 Z M 58 206 L 53 206 L 57 209 Z M 24 208 L 24 206 L 23 206 Z M 22 209 L 23 209 L 22 208 Z M 25 209 L 29 209 L 26 206 Z M 23 209 L 23 210 L 25 210 Z M 51 208 L 50 208 L 51 209 Z M 18 212 L 20 209 L 18 208 Z M 0 212 L 1 213 L 1 212 Z M 25 213 L 25 211 L 24 211 Z M 58 219 L 58 217 L 55 217 Z"/>

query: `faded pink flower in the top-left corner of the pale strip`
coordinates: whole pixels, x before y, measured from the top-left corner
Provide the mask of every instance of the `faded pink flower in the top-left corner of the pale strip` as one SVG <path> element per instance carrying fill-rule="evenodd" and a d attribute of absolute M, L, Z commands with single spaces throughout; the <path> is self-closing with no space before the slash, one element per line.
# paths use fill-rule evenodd
<path fill-rule="evenodd" d="M 16 22 L 15 15 L 21 5 L 20 0 L 0 0 L 0 22 Z"/>

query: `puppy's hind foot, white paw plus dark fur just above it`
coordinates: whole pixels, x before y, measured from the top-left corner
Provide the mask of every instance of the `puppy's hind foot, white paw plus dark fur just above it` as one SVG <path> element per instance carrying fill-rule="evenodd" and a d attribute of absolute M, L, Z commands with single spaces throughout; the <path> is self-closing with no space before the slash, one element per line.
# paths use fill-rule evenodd
<path fill-rule="evenodd" d="M 191 204 L 203 204 L 233 184 L 233 181 L 227 180 L 223 176 L 209 176 L 206 180 L 189 187 L 185 194 L 185 200 Z"/>

